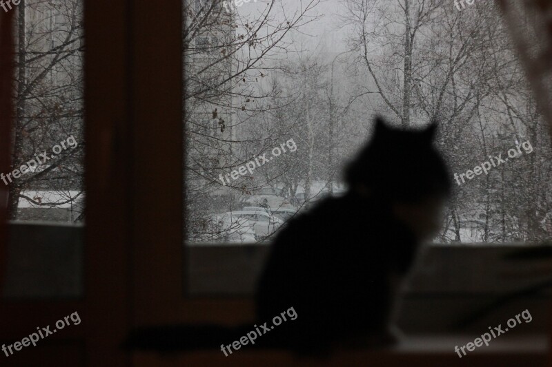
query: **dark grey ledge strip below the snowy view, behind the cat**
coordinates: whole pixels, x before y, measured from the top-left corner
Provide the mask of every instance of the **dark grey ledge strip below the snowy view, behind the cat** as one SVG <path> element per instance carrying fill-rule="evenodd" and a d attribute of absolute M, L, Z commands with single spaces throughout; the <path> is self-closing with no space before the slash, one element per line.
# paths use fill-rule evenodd
<path fill-rule="evenodd" d="M 186 294 L 192 297 L 252 295 L 269 249 L 264 244 L 185 246 Z M 528 249 L 550 251 L 546 256 L 520 256 L 519 251 Z M 431 244 L 420 255 L 408 293 L 508 293 L 547 280 L 552 274 L 551 255 L 552 247 L 542 245 Z"/>

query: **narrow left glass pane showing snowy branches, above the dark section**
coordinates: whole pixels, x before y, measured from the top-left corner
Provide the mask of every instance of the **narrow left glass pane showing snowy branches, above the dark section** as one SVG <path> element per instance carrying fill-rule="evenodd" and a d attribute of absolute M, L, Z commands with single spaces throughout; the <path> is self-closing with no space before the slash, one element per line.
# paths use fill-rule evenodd
<path fill-rule="evenodd" d="M 83 220 L 83 14 L 79 0 L 22 0 L 15 36 L 12 220 Z M 24 16 L 21 16 L 24 14 Z"/>

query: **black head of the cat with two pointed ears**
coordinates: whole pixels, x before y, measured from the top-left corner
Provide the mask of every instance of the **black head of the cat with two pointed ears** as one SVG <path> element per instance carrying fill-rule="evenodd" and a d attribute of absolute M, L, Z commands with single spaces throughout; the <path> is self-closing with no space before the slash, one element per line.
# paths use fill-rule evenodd
<path fill-rule="evenodd" d="M 415 202 L 428 196 L 448 196 L 451 178 L 433 147 L 437 123 L 424 129 L 391 127 L 375 118 L 371 140 L 348 165 L 345 180 L 380 200 Z"/>

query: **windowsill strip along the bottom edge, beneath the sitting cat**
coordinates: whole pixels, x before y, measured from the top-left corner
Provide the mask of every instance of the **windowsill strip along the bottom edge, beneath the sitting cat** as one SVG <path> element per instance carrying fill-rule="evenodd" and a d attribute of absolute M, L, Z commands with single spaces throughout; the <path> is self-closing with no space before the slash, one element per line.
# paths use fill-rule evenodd
<path fill-rule="evenodd" d="M 493 339 L 489 346 L 482 346 L 462 358 L 458 357 L 453 350 L 454 346 L 463 345 L 471 338 L 473 336 L 411 336 L 393 348 L 339 350 L 329 359 L 297 359 L 291 353 L 279 350 L 238 350 L 228 357 L 220 350 L 204 350 L 182 353 L 175 359 L 183 366 L 546 366 L 546 335 Z M 155 353 L 135 354 L 135 360 L 144 365 L 154 365 L 158 359 L 159 355 Z"/>

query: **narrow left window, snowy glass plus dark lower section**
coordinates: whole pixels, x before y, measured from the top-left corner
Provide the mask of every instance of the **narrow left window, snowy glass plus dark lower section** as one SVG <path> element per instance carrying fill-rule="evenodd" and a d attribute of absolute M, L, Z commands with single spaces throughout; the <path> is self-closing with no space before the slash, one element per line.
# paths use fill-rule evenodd
<path fill-rule="evenodd" d="M 83 296 L 83 4 L 26 0 L 16 43 L 6 185 L 10 235 L 2 297 Z M 52 225 L 55 224 L 55 225 Z"/>

